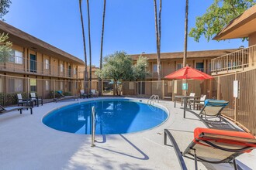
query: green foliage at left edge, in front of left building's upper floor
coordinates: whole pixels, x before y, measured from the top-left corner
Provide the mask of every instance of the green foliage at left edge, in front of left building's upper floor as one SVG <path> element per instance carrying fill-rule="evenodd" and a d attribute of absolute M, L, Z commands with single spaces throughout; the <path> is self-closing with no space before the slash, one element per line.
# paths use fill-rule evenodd
<path fill-rule="evenodd" d="M 13 55 L 12 42 L 6 41 L 8 38 L 8 34 L 0 34 L 0 63 L 7 62 L 9 57 Z"/>

